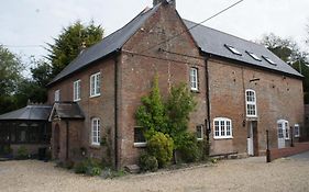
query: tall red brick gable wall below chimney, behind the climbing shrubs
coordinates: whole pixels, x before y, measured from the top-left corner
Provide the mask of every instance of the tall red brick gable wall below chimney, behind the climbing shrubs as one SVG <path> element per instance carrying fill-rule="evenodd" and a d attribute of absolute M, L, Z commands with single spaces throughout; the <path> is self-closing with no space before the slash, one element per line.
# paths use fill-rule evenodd
<path fill-rule="evenodd" d="M 190 116 L 190 131 L 195 132 L 195 127 L 198 124 L 203 124 L 205 118 L 207 118 L 205 60 L 199 56 L 199 50 L 191 36 L 185 33 L 174 41 L 148 49 L 153 45 L 186 30 L 176 11 L 169 7 L 162 7 L 141 29 L 143 30 L 137 31 L 124 45 L 120 69 L 122 165 L 136 163 L 137 161 L 141 149 L 133 146 L 133 127 L 136 126 L 134 114 L 137 106 L 141 105 L 141 98 L 150 93 L 156 72 L 158 74 L 161 92 L 166 99 L 172 86 L 185 82 L 189 88 L 189 69 L 190 67 L 197 67 L 200 83 L 199 92 L 195 93 L 195 99 L 198 106 L 197 111 Z M 178 55 L 158 52 L 158 48 Z M 144 52 L 145 49 L 148 50 Z M 126 50 L 130 50 L 130 53 Z M 179 54 L 192 57 L 185 57 Z"/>

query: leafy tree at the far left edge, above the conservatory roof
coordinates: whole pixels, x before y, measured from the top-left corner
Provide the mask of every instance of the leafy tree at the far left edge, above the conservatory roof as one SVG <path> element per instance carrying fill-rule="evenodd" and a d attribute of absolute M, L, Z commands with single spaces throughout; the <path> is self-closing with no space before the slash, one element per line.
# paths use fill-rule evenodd
<path fill-rule="evenodd" d="M 13 94 L 23 68 L 20 57 L 0 45 L 0 114 L 16 109 Z"/>

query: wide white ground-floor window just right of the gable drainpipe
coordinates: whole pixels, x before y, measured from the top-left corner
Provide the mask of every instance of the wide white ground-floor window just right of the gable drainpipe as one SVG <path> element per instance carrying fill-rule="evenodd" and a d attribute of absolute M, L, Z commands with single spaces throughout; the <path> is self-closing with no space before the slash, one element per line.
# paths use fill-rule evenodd
<path fill-rule="evenodd" d="M 217 124 L 217 122 L 218 122 L 218 124 Z M 228 131 L 228 124 L 229 124 L 229 131 Z M 222 125 L 223 125 L 223 128 L 222 128 Z M 217 131 L 217 127 L 218 127 L 218 131 Z M 229 135 L 228 135 L 228 132 L 230 132 Z M 217 135 L 217 133 L 218 133 L 218 135 Z M 233 124 L 232 124 L 231 118 L 228 118 L 228 117 L 213 118 L 213 138 L 214 139 L 233 138 Z"/>

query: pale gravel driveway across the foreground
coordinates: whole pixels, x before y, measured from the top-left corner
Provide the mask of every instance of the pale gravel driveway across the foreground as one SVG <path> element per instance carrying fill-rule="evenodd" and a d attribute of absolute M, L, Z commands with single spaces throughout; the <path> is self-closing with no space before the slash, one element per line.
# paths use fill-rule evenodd
<path fill-rule="evenodd" d="M 308 156 L 309 157 L 309 156 Z M 52 162 L 0 162 L 2 192 L 107 191 L 309 191 L 309 159 L 285 158 L 266 163 L 265 157 L 222 160 L 207 167 L 100 179 L 74 174 Z"/>

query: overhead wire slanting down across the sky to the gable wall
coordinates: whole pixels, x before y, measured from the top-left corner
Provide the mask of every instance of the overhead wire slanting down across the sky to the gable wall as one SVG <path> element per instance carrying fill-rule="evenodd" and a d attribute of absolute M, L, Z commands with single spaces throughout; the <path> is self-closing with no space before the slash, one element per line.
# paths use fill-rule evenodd
<path fill-rule="evenodd" d="M 225 9 L 223 9 L 223 10 L 219 11 L 218 13 L 213 14 L 212 16 L 210 16 L 210 18 L 208 18 L 208 19 L 206 19 L 206 20 L 203 20 L 203 21 L 201 21 L 201 22 L 195 24 L 194 26 L 191 26 L 191 27 L 189 27 L 189 29 L 187 29 L 187 30 L 184 30 L 183 32 L 180 32 L 180 33 L 178 33 L 178 34 L 176 34 L 176 35 L 174 35 L 174 36 L 172 36 L 170 38 L 167 38 L 166 41 L 163 41 L 163 42 L 161 42 L 161 43 L 158 43 L 158 44 L 156 44 L 156 45 L 154 45 L 154 46 L 151 46 L 150 48 L 143 49 L 143 50 L 141 52 L 141 54 L 144 53 L 144 52 L 147 52 L 147 50 L 150 50 L 150 49 L 153 49 L 153 48 L 155 48 L 155 47 L 157 47 L 157 46 L 159 46 L 159 45 L 162 45 L 162 44 L 165 44 L 165 43 L 167 43 L 167 42 L 169 42 L 169 41 L 172 41 L 172 39 L 174 39 L 174 38 L 177 38 L 178 36 L 183 35 L 184 33 L 189 32 L 190 30 L 192 30 L 192 29 L 195 29 L 195 27 L 201 25 L 202 23 L 205 23 L 205 22 L 207 22 L 207 21 L 209 21 L 209 20 L 211 20 L 211 19 L 213 19 L 213 18 L 216 18 L 216 16 L 222 14 L 223 12 L 228 11 L 229 9 L 231 9 L 231 8 L 235 7 L 235 5 L 238 5 L 238 4 L 241 3 L 242 1 L 244 1 L 244 0 L 240 0 L 240 1 L 238 1 L 238 2 L 235 2 L 235 3 L 233 3 L 233 4 L 231 4 L 231 5 L 229 5 L 228 8 L 225 8 Z"/>

